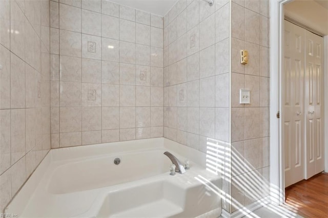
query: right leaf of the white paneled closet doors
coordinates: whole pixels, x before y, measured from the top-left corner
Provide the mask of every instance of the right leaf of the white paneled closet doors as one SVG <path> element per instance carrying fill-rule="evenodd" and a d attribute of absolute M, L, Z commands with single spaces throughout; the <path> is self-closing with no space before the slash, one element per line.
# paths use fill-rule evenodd
<path fill-rule="evenodd" d="M 323 171 L 323 38 L 305 30 L 305 179 Z"/>

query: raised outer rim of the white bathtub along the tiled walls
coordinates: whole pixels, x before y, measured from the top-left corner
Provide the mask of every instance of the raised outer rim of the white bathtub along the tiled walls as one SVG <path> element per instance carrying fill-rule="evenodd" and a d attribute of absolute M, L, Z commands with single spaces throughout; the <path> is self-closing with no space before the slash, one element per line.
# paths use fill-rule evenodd
<path fill-rule="evenodd" d="M 97 148 L 97 149 L 93 149 Z M 46 170 L 52 162 L 75 158 L 83 158 L 104 154 L 104 152 L 138 151 L 144 149 L 169 149 L 177 156 L 185 157 L 206 168 L 206 154 L 194 148 L 182 145 L 167 138 L 139 139 L 121 142 L 109 142 L 101 144 L 72 146 L 51 149 L 44 160 L 38 165 L 30 178 L 25 182 L 12 201 L 5 208 L 6 213 L 22 214 L 28 204 L 29 199 L 35 192 L 39 182 L 42 181 Z M 90 151 L 92 150 L 92 152 Z M 79 151 L 79 152 L 76 152 Z M 71 157 L 69 156 L 71 155 Z M 185 160 L 181 160 L 185 161 Z M 220 175 L 218 175 L 220 177 Z"/>

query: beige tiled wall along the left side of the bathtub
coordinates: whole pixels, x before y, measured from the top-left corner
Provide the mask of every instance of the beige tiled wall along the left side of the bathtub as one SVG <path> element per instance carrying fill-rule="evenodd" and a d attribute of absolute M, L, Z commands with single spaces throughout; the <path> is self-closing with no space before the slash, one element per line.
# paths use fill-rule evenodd
<path fill-rule="evenodd" d="M 49 1 L 0 1 L 0 213 L 50 149 Z"/>

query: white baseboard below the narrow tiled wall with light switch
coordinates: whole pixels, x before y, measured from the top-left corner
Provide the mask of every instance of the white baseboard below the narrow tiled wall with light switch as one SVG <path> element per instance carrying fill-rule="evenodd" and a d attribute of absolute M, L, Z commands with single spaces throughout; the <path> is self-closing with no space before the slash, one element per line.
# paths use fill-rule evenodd
<path fill-rule="evenodd" d="M 224 218 L 243 217 L 243 216 L 253 212 L 254 210 L 257 210 L 258 208 L 261 208 L 264 205 L 267 205 L 269 203 L 270 203 L 270 197 L 267 196 L 267 197 L 257 200 L 256 202 L 253 202 L 252 204 L 250 204 L 248 206 L 242 207 L 233 213 L 229 213 L 228 211 L 222 209 L 221 216 Z"/>

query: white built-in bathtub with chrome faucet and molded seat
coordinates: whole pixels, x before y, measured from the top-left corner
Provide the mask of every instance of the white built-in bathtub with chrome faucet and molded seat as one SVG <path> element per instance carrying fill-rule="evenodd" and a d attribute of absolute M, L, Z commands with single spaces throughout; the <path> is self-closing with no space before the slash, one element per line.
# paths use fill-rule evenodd
<path fill-rule="evenodd" d="M 164 151 L 181 162 L 189 159 L 191 168 L 170 176 L 172 162 Z M 6 212 L 19 217 L 218 217 L 221 180 L 206 162 L 201 152 L 163 138 L 53 149 Z"/>

